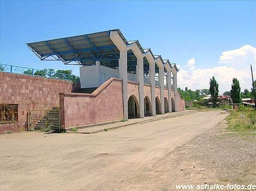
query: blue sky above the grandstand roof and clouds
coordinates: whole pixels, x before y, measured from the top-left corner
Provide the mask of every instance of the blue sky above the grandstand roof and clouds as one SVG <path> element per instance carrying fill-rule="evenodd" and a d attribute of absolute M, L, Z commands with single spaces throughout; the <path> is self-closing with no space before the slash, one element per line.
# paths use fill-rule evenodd
<path fill-rule="evenodd" d="M 118 28 L 127 40 L 140 40 L 143 48 L 152 48 L 188 75 L 193 75 L 187 64 L 192 58 L 194 70 L 227 66 L 241 71 L 247 63 L 244 68 L 231 66 L 220 62 L 220 56 L 244 45 L 256 47 L 255 7 L 255 1 L 1 1 L 0 61 L 72 69 L 79 75 L 79 66 L 40 61 L 25 43 Z M 203 87 L 186 82 L 184 76 L 180 79 L 182 88 L 209 84 Z M 244 88 L 250 87 L 246 83 Z"/>

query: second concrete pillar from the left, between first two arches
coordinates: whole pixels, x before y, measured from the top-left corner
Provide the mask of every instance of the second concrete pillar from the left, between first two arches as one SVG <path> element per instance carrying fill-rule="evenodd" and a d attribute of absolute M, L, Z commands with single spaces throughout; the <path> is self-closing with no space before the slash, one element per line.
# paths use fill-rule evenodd
<path fill-rule="evenodd" d="M 139 82 L 139 105 L 140 118 L 144 118 L 144 72 L 143 72 L 143 56 L 137 57 L 136 78 Z"/>

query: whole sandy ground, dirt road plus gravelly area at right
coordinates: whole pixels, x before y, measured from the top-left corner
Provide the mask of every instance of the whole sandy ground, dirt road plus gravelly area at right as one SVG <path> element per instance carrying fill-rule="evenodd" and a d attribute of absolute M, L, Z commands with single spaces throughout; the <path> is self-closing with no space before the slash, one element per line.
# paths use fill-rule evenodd
<path fill-rule="evenodd" d="M 217 124 L 225 117 L 207 111 L 97 134 L 1 135 L 0 190 L 166 191 L 178 183 L 253 183 L 256 145 L 223 134 L 224 124 Z M 241 174 L 244 180 L 235 180 Z"/>

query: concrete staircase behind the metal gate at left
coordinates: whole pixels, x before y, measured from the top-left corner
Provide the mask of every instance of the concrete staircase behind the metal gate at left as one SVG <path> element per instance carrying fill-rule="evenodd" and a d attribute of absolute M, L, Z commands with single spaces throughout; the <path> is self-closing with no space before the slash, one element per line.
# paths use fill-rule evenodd
<path fill-rule="evenodd" d="M 34 130 L 42 130 L 47 126 L 51 126 L 51 130 L 55 131 L 59 129 L 59 108 L 55 107 L 47 110 L 47 114 L 36 123 Z"/>

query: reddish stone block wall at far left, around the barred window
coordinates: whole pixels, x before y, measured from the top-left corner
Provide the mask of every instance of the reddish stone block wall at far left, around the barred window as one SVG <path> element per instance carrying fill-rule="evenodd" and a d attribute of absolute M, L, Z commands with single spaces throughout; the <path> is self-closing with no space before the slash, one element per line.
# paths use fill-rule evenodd
<path fill-rule="evenodd" d="M 59 106 L 59 92 L 73 92 L 79 82 L 0 72 L 0 104 L 18 104 L 18 122 L 0 124 L 0 134 L 23 131 L 30 109 Z"/>

